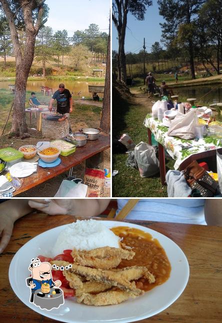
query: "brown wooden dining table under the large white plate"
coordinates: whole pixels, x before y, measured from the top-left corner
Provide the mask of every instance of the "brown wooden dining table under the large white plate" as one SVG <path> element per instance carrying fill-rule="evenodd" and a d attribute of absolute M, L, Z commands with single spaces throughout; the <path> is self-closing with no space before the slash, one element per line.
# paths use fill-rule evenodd
<path fill-rule="evenodd" d="M 10 242 L 0 254 L 1 321 L 55 322 L 34 312 L 17 298 L 10 287 L 8 268 L 13 255 L 27 241 L 48 229 L 71 222 L 73 217 L 69 215 L 49 216 L 38 213 L 26 215 L 15 222 Z M 128 222 L 148 227 L 173 240 L 186 255 L 190 268 L 188 283 L 179 298 L 160 313 L 138 322 L 221 322 L 222 227 L 131 220 Z"/>

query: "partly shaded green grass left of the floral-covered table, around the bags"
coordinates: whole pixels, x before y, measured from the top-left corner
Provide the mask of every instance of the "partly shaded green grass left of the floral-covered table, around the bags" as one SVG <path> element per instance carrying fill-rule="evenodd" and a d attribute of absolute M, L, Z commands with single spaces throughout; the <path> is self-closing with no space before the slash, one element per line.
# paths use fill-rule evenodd
<path fill-rule="evenodd" d="M 135 144 L 147 142 L 143 120 L 148 108 L 135 105 L 122 98 L 112 99 L 112 135 L 127 133 Z M 118 174 L 112 177 L 113 197 L 167 197 L 166 187 L 161 186 L 159 174 L 141 178 L 139 171 L 125 165 L 127 154 L 112 154 L 112 169 Z"/>

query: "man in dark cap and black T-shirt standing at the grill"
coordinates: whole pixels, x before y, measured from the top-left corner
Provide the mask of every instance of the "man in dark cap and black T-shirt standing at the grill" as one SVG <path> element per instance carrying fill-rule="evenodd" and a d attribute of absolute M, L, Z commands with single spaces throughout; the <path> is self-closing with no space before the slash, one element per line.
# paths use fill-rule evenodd
<path fill-rule="evenodd" d="M 60 83 L 58 86 L 58 90 L 55 91 L 53 94 L 50 102 L 48 110 L 52 110 L 52 103 L 56 99 L 57 101 L 57 112 L 65 116 L 67 119 L 69 119 L 69 113 L 72 112 L 72 98 L 71 93 L 69 90 L 65 89 L 64 84 Z M 69 125 L 69 132 L 71 132 L 71 128 Z"/>

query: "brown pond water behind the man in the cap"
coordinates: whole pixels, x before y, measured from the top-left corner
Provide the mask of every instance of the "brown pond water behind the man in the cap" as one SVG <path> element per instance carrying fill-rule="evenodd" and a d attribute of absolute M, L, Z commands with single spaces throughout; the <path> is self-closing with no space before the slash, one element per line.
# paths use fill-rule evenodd
<path fill-rule="evenodd" d="M 59 83 L 64 83 L 65 88 L 70 92 L 73 92 L 73 97 L 91 97 L 91 93 L 88 92 L 88 85 L 104 85 L 104 82 L 85 82 L 85 81 L 55 81 L 55 80 L 36 80 L 36 81 L 27 81 L 27 91 L 33 91 L 40 93 L 40 86 L 47 86 L 52 88 L 54 93 L 58 89 Z M 1 81 L 0 88 L 8 90 L 8 84 L 14 84 L 13 81 Z M 103 93 L 98 93 L 100 98 L 103 98 Z"/>

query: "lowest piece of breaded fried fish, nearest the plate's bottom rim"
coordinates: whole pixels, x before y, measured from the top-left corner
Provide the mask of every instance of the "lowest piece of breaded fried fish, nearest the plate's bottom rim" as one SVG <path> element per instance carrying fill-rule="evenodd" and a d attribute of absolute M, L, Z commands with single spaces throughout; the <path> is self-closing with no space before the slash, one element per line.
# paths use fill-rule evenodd
<path fill-rule="evenodd" d="M 119 304 L 129 297 L 135 298 L 136 296 L 127 291 L 108 290 L 95 295 L 83 293 L 81 296 L 77 297 L 77 302 L 81 303 L 83 301 L 84 304 L 95 306 L 113 305 Z"/>

